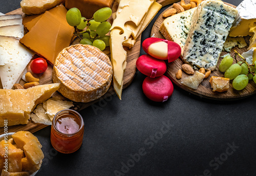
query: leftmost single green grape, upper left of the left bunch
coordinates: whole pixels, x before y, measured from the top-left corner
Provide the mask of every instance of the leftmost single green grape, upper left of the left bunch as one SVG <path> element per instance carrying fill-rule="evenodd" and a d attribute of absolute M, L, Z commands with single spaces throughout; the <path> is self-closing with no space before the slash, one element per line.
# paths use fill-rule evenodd
<path fill-rule="evenodd" d="M 67 22 L 70 26 L 77 26 L 81 22 L 81 12 L 77 8 L 71 8 L 66 14 Z"/>

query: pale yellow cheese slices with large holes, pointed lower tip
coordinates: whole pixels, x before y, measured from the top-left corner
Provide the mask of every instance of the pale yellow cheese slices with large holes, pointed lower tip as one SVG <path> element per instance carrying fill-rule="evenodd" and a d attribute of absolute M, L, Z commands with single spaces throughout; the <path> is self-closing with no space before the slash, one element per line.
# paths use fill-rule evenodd
<path fill-rule="evenodd" d="M 111 61 L 114 69 L 114 90 L 121 99 L 123 75 L 127 52 L 124 47 L 133 47 L 135 39 L 150 23 L 162 6 L 154 0 L 121 0 L 111 27 Z M 133 38 L 133 39 L 132 39 Z"/>

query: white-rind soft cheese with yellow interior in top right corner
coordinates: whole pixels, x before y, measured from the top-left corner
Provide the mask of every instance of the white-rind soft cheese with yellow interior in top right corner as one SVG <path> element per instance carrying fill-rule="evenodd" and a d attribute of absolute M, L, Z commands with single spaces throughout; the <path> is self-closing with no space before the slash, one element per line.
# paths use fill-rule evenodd
<path fill-rule="evenodd" d="M 244 0 L 238 7 L 239 12 L 236 21 L 230 29 L 229 36 L 247 36 L 250 35 L 250 45 L 248 50 L 256 47 L 256 1 Z"/>

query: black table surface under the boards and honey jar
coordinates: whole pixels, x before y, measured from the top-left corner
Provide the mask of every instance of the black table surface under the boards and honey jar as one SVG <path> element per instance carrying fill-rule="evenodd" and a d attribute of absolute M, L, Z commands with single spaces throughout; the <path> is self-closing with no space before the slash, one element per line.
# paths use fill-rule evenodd
<path fill-rule="evenodd" d="M 19 2 L 0 0 L 0 12 Z M 34 133 L 45 153 L 37 175 L 256 175 L 256 95 L 212 101 L 175 86 L 167 102 L 154 103 L 142 92 L 144 78 L 137 72 L 121 101 L 113 96 L 80 112 L 85 130 L 75 153 L 54 150 L 50 126 Z"/>

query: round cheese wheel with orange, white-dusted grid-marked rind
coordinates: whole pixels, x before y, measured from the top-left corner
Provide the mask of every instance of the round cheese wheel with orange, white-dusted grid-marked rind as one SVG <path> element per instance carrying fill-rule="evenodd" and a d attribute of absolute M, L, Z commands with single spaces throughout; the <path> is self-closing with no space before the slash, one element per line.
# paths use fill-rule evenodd
<path fill-rule="evenodd" d="M 74 45 L 62 50 L 53 67 L 53 82 L 58 90 L 75 102 L 90 102 L 104 95 L 112 80 L 112 65 L 108 56 L 90 45 Z"/>

